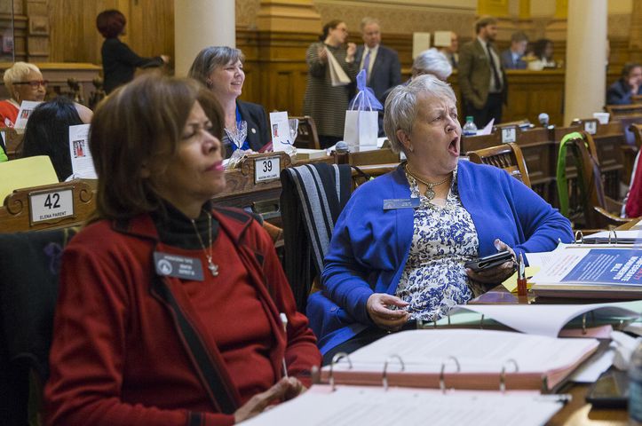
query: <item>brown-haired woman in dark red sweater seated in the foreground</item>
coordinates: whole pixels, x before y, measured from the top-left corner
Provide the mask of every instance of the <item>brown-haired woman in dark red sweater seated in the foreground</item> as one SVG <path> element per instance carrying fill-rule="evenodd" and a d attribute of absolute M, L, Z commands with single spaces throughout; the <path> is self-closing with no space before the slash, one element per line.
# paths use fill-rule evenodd
<path fill-rule="evenodd" d="M 321 355 L 272 241 L 211 204 L 226 177 L 210 98 L 149 74 L 94 114 L 97 210 L 62 256 L 50 426 L 229 425 L 311 384 Z"/>

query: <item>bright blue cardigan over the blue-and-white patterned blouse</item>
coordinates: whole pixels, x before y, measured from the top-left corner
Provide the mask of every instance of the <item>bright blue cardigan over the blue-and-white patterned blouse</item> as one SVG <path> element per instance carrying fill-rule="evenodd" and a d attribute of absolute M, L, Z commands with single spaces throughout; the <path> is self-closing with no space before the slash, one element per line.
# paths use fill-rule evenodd
<path fill-rule="evenodd" d="M 479 256 L 496 252 L 496 238 L 518 256 L 573 241 L 567 218 L 504 170 L 459 162 L 457 188 L 477 229 Z M 322 353 L 374 325 L 366 309 L 370 295 L 394 295 L 408 259 L 414 210 L 383 205 L 408 198 L 408 180 L 399 167 L 357 188 L 338 218 L 321 274 L 323 289 L 307 304 Z"/>

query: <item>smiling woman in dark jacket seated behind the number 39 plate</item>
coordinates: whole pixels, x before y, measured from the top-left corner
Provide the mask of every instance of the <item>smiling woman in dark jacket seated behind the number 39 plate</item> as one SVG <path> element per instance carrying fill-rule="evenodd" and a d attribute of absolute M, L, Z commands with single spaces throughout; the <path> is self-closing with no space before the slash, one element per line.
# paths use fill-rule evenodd
<path fill-rule="evenodd" d="M 204 84 L 214 94 L 225 114 L 226 132 L 223 135 L 225 155 L 237 149 L 259 151 L 271 140 L 270 124 L 266 109 L 258 104 L 239 100 L 245 82 L 242 51 L 227 46 L 206 47 L 196 55 L 188 75 Z M 238 129 L 240 122 L 247 123 L 247 136 L 235 145 L 229 134 Z"/>

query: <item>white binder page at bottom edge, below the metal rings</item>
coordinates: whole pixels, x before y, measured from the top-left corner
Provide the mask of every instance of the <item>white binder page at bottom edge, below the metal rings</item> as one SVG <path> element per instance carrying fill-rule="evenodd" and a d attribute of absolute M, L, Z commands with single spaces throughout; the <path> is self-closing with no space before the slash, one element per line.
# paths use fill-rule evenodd
<path fill-rule="evenodd" d="M 501 407 L 501 408 L 499 408 Z M 530 393 L 460 392 L 377 387 L 338 387 L 328 392 L 316 386 L 242 424 L 248 426 L 432 426 L 515 424 L 539 425 L 561 408 L 551 398 Z"/>

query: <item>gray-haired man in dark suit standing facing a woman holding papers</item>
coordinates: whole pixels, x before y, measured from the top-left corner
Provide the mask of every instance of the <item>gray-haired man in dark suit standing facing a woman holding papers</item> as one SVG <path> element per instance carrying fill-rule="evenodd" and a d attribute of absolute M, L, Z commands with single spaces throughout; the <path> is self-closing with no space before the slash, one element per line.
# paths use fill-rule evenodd
<path fill-rule="evenodd" d="M 385 91 L 401 83 L 399 55 L 381 44 L 378 20 L 361 20 L 361 37 L 364 44 L 357 47 L 354 60 L 359 70 L 366 70 L 368 87 L 375 92 L 376 99 L 381 99 Z"/>

